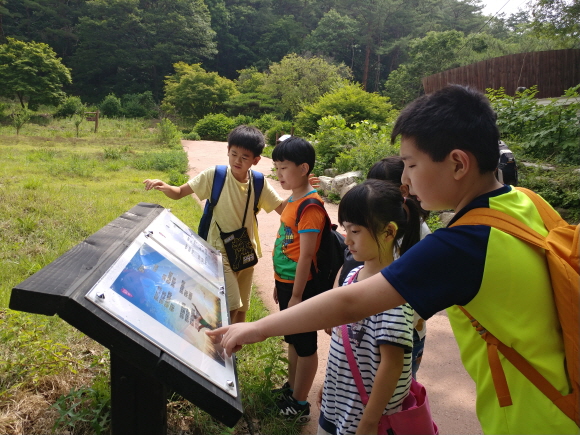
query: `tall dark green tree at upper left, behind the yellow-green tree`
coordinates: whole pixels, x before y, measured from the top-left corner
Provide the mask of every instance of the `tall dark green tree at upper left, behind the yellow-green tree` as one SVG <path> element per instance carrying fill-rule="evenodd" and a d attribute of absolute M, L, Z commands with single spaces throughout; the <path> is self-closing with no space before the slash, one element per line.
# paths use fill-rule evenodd
<path fill-rule="evenodd" d="M 173 64 L 211 58 L 214 36 L 203 0 L 87 2 L 71 59 L 75 83 L 94 102 L 145 91 L 159 101 Z"/>

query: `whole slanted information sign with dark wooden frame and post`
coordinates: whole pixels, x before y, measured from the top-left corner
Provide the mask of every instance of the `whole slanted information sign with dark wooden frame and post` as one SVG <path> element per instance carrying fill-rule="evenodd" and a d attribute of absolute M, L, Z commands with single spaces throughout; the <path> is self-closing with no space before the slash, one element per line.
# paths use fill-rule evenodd
<path fill-rule="evenodd" d="M 229 426 L 242 415 L 235 357 L 205 334 L 229 322 L 221 254 L 163 207 L 138 204 L 17 285 L 10 308 L 111 350 L 113 433 L 166 430 L 167 388 Z"/>

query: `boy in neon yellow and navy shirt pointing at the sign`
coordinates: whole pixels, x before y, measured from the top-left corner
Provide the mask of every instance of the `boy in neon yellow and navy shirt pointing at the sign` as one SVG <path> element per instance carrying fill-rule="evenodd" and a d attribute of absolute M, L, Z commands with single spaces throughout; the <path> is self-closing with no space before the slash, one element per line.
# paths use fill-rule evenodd
<path fill-rule="evenodd" d="M 495 178 L 496 114 L 484 95 L 459 85 L 424 95 L 399 115 L 402 182 L 426 210 L 453 209 L 452 223 L 476 207 L 499 209 L 542 235 L 527 195 Z M 509 255 L 506 255 L 509 253 Z M 486 343 L 454 305 L 518 351 L 562 394 L 570 385 L 562 333 L 543 251 L 488 226 L 442 228 L 364 283 L 322 293 L 258 322 L 208 332 L 226 352 L 269 336 L 353 322 L 405 302 L 428 319 L 448 309 L 463 364 L 476 384 L 484 433 L 578 434 L 576 423 L 500 354 L 512 405 L 500 407 Z"/>

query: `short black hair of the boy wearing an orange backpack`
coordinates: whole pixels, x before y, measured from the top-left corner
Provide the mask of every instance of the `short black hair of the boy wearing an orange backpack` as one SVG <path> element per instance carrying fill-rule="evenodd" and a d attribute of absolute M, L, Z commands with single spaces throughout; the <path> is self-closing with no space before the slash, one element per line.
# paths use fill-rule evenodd
<path fill-rule="evenodd" d="M 391 133 L 415 140 L 416 147 L 434 162 L 441 162 L 454 149 L 475 156 L 479 172 L 493 172 L 499 160 L 497 115 L 481 92 L 449 85 L 423 95 L 405 107 Z"/>

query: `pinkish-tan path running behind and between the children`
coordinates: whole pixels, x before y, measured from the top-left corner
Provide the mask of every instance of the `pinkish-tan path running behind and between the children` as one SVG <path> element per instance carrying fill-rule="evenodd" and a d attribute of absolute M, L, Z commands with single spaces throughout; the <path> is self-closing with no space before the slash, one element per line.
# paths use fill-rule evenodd
<path fill-rule="evenodd" d="M 212 141 L 182 141 L 189 158 L 189 176 L 194 177 L 204 169 L 216 164 L 227 164 L 227 144 Z M 262 157 L 255 169 L 268 176 L 272 173 L 272 160 Z M 286 198 L 289 196 L 277 181 L 271 178 L 268 182 L 276 191 Z M 197 200 L 197 197 L 194 198 Z M 326 209 L 333 222 L 337 220 L 338 206 L 326 204 Z M 277 312 L 278 306 L 272 299 L 274 271 L 272 266 L 272 249 L 275 234 L 280 225 L 276 212 L 258 214 L 262 259 L 254 269 L 254 284 L 264 304 L 270 312 Z M 433 418 L 439 426 L 439 433 L 445 434 L 481 434 L 481 426 L 475 416 L 475 384 L 465 372 L 459 358 L 459 350 L 449 320 L 445 312 L 440 312 L 427 322 L 428 332 L 425 343 L 423 362 L 418 372 L 419 382 L 425 385 Z M 304 426 L 303 434 L 316 434 L 319 412 L 315 405 L 316 394 L 324 381 L 324 372 L 328 355 L 329 337 L 319 331 L 319 363 L 314 385 L 308 397 L 312 404 L 312 419 Z"/>

